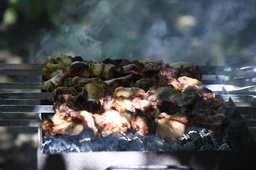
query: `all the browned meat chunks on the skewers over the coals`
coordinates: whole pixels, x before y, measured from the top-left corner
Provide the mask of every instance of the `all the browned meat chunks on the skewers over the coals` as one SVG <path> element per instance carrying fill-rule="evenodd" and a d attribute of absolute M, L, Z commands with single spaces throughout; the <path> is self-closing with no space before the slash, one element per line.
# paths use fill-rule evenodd
<path fill-rule="evenodd" d="M 148 59 L 95 63 L 62 55 L 48 58 L 44 71 L 48 77 L 62 73 L 45 82 L 56 110 L 43 120 L 45 135 L 76 135 L 90 128 L 105 137 L 126 135 L 133 128 L 141 136 L 158 132 L 172 144 L 188 126 L 220 135 L 228 125 L 228 107 L 211 90 L 199 87 L 198 66 Z M 185 103 L 180 106 L 180 101 Z"/>

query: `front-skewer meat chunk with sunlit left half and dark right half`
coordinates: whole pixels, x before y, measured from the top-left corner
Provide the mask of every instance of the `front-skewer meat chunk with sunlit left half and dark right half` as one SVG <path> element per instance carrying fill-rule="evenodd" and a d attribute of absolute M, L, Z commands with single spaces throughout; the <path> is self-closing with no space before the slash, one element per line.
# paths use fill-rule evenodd
<path fill-rule="evenodd" d="M 132 128 L 141 136 L 152 136 L 156 134 L 156 121 L 154 116 L 146 115 L 136 110 L 132 115 Z"/>

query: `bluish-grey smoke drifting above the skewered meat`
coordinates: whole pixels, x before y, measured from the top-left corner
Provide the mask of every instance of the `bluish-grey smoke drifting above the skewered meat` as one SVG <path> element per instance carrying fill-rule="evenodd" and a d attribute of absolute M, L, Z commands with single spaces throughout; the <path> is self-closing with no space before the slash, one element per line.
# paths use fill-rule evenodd
<path fill-rule="evenodd" d="M 40 32 L 30 46 L 31 63 L 61 53 L 93 61 L 149 58 L 199 65 L 235 63 L 241 57 L 252 64 L 255 57 L 254 0 L 79 2 L 77 20 Z"/>

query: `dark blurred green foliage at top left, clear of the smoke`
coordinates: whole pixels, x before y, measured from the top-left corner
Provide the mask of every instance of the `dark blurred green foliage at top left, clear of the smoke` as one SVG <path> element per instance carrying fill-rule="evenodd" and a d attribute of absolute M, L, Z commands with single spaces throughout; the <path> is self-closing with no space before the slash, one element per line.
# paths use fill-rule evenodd
<path fill-rule="evenodd" d="M 77 17 L 78 0 L 2 0 L 0 1 L 0 62 L 8 55 L 23 56 L 36 40 L 40 28 L 58 29 Z"/>

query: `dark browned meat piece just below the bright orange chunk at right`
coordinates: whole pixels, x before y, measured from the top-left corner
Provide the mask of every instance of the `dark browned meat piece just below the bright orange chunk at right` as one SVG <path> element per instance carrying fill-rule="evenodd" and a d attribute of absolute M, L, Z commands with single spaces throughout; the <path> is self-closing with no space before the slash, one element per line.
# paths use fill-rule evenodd
<path fill-rule="evenodd" d="M 190 85 L 183 91 L 182 99 L 186 102 L 194 98 L 211 99 L 215 98 L 215 94 L 212 94 L 211 90 L 206 87 L 200 88 L 197 85 Z"/>

